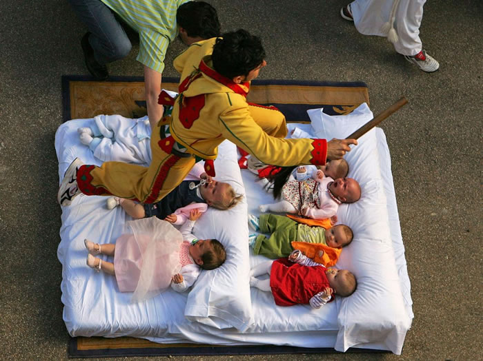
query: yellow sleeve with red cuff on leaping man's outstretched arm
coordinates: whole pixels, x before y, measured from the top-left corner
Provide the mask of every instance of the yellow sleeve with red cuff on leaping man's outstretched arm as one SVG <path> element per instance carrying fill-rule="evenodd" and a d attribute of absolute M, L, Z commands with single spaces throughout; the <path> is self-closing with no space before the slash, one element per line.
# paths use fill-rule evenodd
<path fill-rule="evenodd" d="M 325 139 L 285 139 L 269 136 L 250 115 L 245 101 L 237 94 L 226 94 L 231 105 L 219 116 L 221 134 L 237 146 L 269 165 L 324 165 Z M 275 112 L 275 111 L 274 111 Z"/>

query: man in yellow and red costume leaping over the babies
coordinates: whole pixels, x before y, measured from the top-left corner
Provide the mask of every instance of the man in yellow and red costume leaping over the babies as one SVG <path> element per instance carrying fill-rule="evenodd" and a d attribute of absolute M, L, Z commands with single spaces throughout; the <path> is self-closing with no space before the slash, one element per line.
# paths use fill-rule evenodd
<path fill-rule="evenodd" d="M 119 196 L 155 203 L 172 191 L 199 159 L 215 176 L 218 145 L 228 139 L 260 161 L 277 166 L 324 165 L 350 151 L 355 139 L 285 139 L 284 115 L 275 107 L 250 105 L 250 81 L 266 65 L 261 41 L 246 30 L 194 43 L 174 61 L 181 74 L 179 95 L 161 92 L 159 103 L 172 104 L 172 115 L 151 123 L 149 167 L 106 162 L 68 167 L 57 196 L 70 205 L 78 194 Z"/>

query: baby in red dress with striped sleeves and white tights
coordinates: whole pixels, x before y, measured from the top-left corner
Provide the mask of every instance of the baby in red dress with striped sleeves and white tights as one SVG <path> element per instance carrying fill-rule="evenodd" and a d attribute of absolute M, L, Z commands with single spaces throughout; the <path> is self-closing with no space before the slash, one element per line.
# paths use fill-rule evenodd
<path fill-rule="evenodd" d="M 270 275 L 261 280 L 257 276 Z M 313 262 L 299 250 L 288 258 L 263 262 L 250 271 L 250 286 L 271 291 L 275 304 L 309 304 L 318 309 L 339 296 L 351 296 L 357 287 L 355 276 L 346 269 L 326 268 Z"/>

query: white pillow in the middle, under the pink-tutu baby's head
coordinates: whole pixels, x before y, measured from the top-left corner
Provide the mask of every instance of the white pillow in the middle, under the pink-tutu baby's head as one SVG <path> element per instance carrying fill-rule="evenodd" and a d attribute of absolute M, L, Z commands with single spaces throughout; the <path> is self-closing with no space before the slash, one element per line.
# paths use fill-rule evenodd
<path fill-rule="evenodd" d="M 237 163 L 237 148 L 224 141 L 215 161 L 215 179 L 230 183 L 238 194 L 245 194 Z M 233 209 L 209 207 L 193 229 L 198 238 L 217 238 L 225 247 L 226 261 L 221 267 L 202 271 L 188 294 L 184 315 L 188 320 L 217 329 L 235 327 L 246 330 L 253 321 L 250 300 L 250 253 L 248 251 L 246 198 Z"/>

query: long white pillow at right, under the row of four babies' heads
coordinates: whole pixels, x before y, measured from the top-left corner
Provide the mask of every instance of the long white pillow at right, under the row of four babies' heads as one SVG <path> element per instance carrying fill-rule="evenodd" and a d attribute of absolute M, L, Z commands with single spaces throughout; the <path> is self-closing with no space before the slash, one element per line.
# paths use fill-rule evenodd
<path fill-rule="evenodd" d="M 308 110 L 308 115 L 315 135 L 328 140 L 346 138 L 373 118 L 366 103 L 346 116 L 328 116 L 321 109 Z M 339 333 L 335 348 L 346 350 L 371 342 L 371 329 L 377 323 L 377 329 L 391 333 L 384 342 L 391 342 L 388 348 L 394 349 L 396 340 L 404 339 L 411 318 L 406 313 L 395 265 L 375 129 L 358 142 L 344 158 L 349 164 L 348 176 L 359 182 L 362 196 L 337 211 L 338 223 L 351 227 L 354 238 L 344 247 L 336 265 L 353 272 L 357 289 L 349 297 L 336 297 Z"/>

